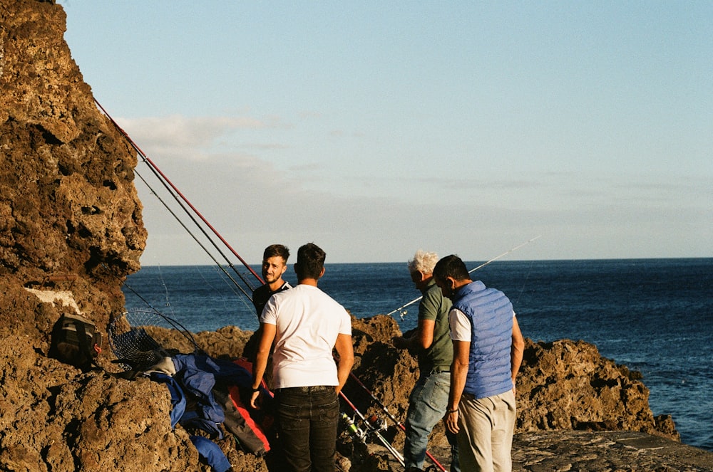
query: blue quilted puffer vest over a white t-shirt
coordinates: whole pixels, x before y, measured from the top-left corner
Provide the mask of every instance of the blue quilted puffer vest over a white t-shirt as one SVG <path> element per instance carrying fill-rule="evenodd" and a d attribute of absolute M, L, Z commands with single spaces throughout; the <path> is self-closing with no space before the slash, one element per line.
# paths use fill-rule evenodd
<path fill-rule="evenodd" d="M 476 280 L 458 290 L 453 308 L 471 320 L 470 365 L 463 392 L 481 399 L 512 390 L 513 304 L 508 297 Z"/>

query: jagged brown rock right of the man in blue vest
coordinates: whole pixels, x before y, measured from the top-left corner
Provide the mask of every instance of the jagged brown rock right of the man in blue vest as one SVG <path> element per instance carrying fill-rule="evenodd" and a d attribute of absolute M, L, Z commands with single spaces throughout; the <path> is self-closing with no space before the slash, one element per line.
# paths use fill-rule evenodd
<path fill-rule="evenodd" d="M 527 340 L 518 377 L 519 431 L 642 431 L 680 440 L 670 416 L 655 418 L 639 372 L 587 342 Z"/>

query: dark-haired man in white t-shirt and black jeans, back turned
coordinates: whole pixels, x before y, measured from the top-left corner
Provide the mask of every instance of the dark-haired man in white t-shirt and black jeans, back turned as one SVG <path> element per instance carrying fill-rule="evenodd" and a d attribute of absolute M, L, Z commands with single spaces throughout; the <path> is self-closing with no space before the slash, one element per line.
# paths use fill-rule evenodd
<path fill-rule="evenodd" d="M 352 320 L 317 288 L 326 254 L 313 243 L 297 251 L 297 286 L 275 293 L 260 316 L 260 342 L 252 367 L 257 408 L 272 342 L 277 431 L 292 471 L 334 471 L 339 397 L 354 364 Z M 335 363 L 332 350 L 336 349 Z"/>

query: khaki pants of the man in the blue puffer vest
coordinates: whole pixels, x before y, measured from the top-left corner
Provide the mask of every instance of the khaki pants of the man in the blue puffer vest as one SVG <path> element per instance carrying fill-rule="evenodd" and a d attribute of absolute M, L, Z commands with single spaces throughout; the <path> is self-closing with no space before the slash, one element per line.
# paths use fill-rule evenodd
<path fill-rule="evenodd" d="M 515 394 L 474 399 L 463 394 L 458 405 L 461 471 L 510 472 L 515 431 Z"/>

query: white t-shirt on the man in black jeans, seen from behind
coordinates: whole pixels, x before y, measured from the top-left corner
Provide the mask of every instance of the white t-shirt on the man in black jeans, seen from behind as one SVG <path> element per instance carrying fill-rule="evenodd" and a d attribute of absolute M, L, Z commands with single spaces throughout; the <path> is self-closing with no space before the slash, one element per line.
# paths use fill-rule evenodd
<path fill-rule="evenodd" d="M 276 389 L 339 385 L 332 349 L 337 335 L 352 335 L 352 320 L 332 297 L 313 285 L 297 285 L 272 295 L 260 322 L 276 329 L 272 355 Z"/>

